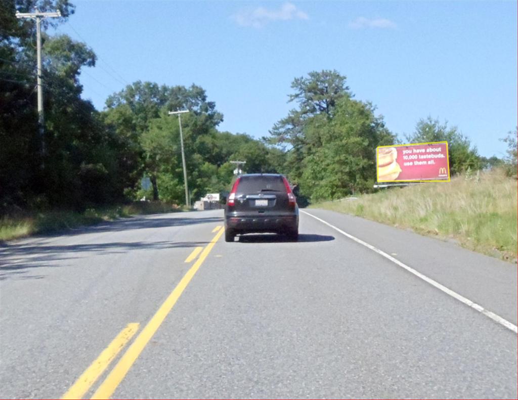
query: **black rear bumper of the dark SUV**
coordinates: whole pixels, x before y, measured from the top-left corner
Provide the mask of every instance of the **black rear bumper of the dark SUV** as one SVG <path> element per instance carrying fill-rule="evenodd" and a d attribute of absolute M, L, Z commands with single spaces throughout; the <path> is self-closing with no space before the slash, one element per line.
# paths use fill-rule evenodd
<path fill-rule="evenodd" d="M 298 229 L 298 215 L 226 216 L 225 229 L 235 233 L 286 232 Z"/>

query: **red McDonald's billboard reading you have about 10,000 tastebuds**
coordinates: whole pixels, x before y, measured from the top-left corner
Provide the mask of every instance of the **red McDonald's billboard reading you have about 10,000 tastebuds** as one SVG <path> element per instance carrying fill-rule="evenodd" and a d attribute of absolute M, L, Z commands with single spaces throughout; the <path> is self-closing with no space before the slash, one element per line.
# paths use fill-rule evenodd
<path fill-rule="evenodd" d="M 448 142 L 376 148 L 378 182 L 449 182 Z"/>

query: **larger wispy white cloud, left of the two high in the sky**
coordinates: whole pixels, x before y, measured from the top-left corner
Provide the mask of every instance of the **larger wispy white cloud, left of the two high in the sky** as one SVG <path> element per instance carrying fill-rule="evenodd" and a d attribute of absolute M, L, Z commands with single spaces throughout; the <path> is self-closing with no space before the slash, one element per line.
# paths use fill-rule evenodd
<path fill-rule="evenodd" d="M 268 10 L 264 7 L 243 9 L 234 14 L 232 19 L 241 26 L 260 28 L 271 21 L 287 21 L 293 19 L 307 20 L 309 17 L 294 4 L 284 3 L 281 8 L 276 10 Z"/>

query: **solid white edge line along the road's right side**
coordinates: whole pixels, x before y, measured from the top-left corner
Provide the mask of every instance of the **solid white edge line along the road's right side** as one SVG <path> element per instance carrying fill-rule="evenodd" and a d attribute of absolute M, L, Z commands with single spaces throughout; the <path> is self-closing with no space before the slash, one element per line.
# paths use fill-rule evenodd
<path fill-rule="evenodd" d="M 437 289 L 439 289 L 439 290 L 443 291 L 444 293 L 449 294 L 453 298 L 457 299 L 459 302 L 462 302 L 465 305 L 477 310 L 478 312 L 482 313 L 486 317 L 491 318 L 493 321 L 498 322 L 500 325 L 503 325 L 506 328 L 508 328 L 509 330 L 518 334 L 518 326 L 512 324 L 505 318 L 502 318 L 499 315 L 496 315 L 494 312 L 486 310 L 484 307 L 480 306 L 479 304 L 472 302 L 469 298 L 466 298 L 466 297 L 454 292 L 453 290 L 448 289 L 447 287 L 440 284 L 439 282 L 437 282 L 431 278 L 428 278 L 426 275 L 423 275 L 420 272 L 416 271 L 415 269 L 402 263 L 401 261 L 396 260 L 393 256 L 385 253 L 383 250 L 380 250 L 372 245 L 369 245 L 367 242 L 365 242 L 361 239 L 358 239 L 357 237 L 354 237 L 353 235 L 350 235 L 347 232 L 342 231 L 340 228 L 337 228 L 336 226 L 331 225 L 329 222 L 326 222 L 323 219 L 320 219 L 319 217 L 315 217 L 314 215 L 310 214 L 307 211 L 300 210 L 300 212 L 304 212 L 306 215 L 309 215 L 310 217 L 313 217 L 314 219 L 319 220 L 320 222 L 326 224 L 327 226 L 332 227 L 335 231 L 340 232 L 342 235 L 347 236 L 348 238 L 354 240 L 355 242 L 361 244 L 362 246 L 365 246 L 365 247 L 369 248 L 370 250 L 377 252 L 378 254 L 382 255 L 384 258 L 392 261 L 394 264 L 399 265 L 401 268 L 405 268 L 408 272 L 414 274 L 416 277 L 421 278 L 425 282 L 431 284 L 432 286 L 436 287 Z"/>

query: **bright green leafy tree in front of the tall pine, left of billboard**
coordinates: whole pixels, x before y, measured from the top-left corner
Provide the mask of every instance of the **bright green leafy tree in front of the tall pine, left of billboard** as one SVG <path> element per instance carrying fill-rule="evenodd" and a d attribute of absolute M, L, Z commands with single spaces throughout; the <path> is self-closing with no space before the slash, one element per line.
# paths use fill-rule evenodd
<path fill-rule="evenodd" d="M 316 132 L 322 145 L 304 162 L 300 189 L 312 199 L 340 198 L 372 190 L 376 180 L 376 147 L 393 144 L 395 136 L 375 115 L 370 103 L 344 97 L 332 119 L 314 117 L 307 136 Z"/>

